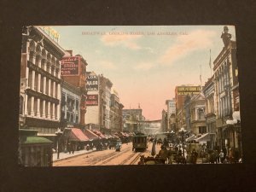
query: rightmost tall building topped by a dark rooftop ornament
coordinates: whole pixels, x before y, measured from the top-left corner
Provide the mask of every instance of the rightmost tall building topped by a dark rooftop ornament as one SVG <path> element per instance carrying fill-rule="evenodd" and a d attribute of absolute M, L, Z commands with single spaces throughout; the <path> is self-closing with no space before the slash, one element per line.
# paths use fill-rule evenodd
<path fill-rule="evenodd" d="M 240 117 L 235 117 L 236 113 L 239 113 L 236 42 L 230 40 L 227 26 L 224 26 L 221 38 L 224 48 L 213 61 L 218 146 L 241 150 Z M 234 120 L 233 123 L 230 123 L 230 120 Z"/>

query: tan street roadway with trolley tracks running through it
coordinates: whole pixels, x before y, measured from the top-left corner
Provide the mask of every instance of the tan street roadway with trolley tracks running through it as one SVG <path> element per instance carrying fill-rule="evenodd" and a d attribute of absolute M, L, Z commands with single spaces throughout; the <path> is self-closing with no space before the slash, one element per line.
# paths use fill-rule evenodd
<path fill-rule="evenodd" d="M 145 157 L 151 154 L 152 143 L 148 143 L 148 148 L 144 152 L 132 151 L 132 143 L 123 143 L 119 152 L 115 149 L 94 151 L 89 154 L 80 154 L 65 160 L 58 160 L 53 166 L 117 166 L 117 165 L 137 165 L 140 156 Z M 156 153 L 160 151 L 160 145 L 156 145 Z"/>

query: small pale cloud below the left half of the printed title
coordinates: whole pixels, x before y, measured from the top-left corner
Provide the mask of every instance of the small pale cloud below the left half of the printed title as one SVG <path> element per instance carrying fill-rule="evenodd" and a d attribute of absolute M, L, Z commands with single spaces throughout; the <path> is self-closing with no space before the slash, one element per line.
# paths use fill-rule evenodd
<path fill-rule="evenodd" d="M 118 46 L 122 45 L 129 49 L 141 49 L 141 47 L 137 44 L 137 39 L 141 38 L 142 35 L 129 35 L 129 34 L 118 34 L 111 35 L 106 34 L 103 35 L 101 40 L 104 44 L 108 46 Z"/>

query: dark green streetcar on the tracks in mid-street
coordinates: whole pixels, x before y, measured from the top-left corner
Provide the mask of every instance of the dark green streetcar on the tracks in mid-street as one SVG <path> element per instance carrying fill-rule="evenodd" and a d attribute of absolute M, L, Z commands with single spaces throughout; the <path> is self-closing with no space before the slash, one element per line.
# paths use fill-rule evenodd
<path fill-rule="evenodd" d="M 147 140 L 147 135 L 143 133 L 137 133 L 135 136 L 132 138 L 132 151 L 135 150 L 137 151 L 144 151 L 148 148 L 148 140 Z"/>

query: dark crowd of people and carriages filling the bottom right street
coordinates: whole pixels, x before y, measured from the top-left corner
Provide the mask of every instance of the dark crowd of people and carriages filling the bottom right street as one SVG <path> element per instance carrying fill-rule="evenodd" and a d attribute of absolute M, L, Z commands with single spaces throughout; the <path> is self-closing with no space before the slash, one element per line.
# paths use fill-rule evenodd
<path fill-rule="evenodd" d="M 154 164 L 197 164 L 199 159 L 201 163 L 210 163 L 210 164 L 225 164 L 225 163 L 241 163 L 241 154 L 239 154 L 238 149 L 229 148 L 227 151 L 226 148 L 220 149 L 201 149 L 198 148 L 189 148 L 187 151 L 185 148 L 182 148 L 181 145 L 172 143 L 170 147 L 169 142 L 166 138 L 163 140 L 156 138 L 149 138 L 148 142 L 153 143 L 151 150 L 152 157 L 141 156 L 139 165 L 148 164 L 153 162 Z M 155 153 L 155 145 L 161 145 L 160 151 L 158 154 Z M 184 151 L 186 152 L 184 154 Z"/>

